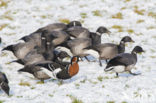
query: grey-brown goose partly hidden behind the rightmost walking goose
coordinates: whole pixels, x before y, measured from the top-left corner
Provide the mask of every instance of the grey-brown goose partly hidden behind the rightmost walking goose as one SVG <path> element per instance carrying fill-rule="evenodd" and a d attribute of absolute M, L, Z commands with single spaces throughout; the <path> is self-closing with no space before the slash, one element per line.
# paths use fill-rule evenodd
<path fill-rule="evenodd" d="M 119 53 L 125 52 L 125 43 L 126 42 L 134 42 L 131 37 L 125 36 L 121 39 L 120 44 L 113 43 L 103 43 L 98 45 L 93 45 L 91 48 L 98 52 L 99 56 L 99 64 L 102 66 L 101 60 L 105 59 L 106 62 L 108 59 L 112 59 Z M 91 49 L 89 48 L 89 49 Z"/>

